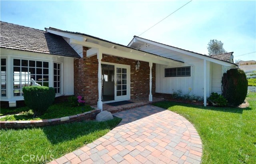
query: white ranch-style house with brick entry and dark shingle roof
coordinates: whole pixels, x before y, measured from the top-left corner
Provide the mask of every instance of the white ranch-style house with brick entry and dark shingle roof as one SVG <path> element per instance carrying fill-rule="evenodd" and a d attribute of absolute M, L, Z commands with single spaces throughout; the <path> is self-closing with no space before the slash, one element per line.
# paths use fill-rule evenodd
<path fill-rule="evenodd" d="M 15 106 L 33 78 L 56 96 L 82 95 L 102 104 L 156 92 L 221 93 L 222 74 L 237 65 L 196 52 L 134 36 L 128 46 L 56 28 L 1 22 L 1 101 Z M 232 55 L 232 52 L 231 52 Z"/>

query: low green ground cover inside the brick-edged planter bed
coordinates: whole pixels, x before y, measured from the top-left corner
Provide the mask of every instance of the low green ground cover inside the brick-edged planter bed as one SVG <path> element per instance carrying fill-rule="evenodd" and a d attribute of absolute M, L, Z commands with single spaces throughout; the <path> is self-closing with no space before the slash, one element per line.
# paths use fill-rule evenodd
<path fill-rule="evenodd" d="M 88 112 L 93 110 L 91 106 L 71 106 L 69 102 L 62 102 L 52 104 L 47 111 L 36 118 L 33 118 L 34 112 L 28 107 L 21 107 L 15 109 L 1 109 L 1 114 L 6 115 L 9 113 L 19 113 L 19 115 L 8 115 L 0 118 L 0 121 L 15 121 L 15 120 L 42 120 L 42 119 L 52 119 L 52 118 L 61 118 L 65 116 L 72 116 L 80 114 L 83 112 Z"/>

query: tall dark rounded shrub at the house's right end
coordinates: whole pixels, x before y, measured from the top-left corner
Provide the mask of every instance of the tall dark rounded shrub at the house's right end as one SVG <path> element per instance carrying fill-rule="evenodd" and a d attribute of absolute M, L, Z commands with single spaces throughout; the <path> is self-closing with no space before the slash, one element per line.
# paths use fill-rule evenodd
<path fill-rule="evenodd" d="M 246 74 L 240 69 L 230 69 L 222 76 L 222 95 L 231 106 L 244 102 L 248 88 Z"/>

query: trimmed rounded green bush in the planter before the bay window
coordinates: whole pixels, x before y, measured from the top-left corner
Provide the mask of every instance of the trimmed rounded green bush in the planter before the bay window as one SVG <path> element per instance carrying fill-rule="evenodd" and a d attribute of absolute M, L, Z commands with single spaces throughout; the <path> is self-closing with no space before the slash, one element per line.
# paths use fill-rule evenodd
<path fill-rule="evenodd" d="M 34 118 L 43 114 L 49 106 L 54 102 L 54 88 L 47 86 L 24 86 L 25 104 L 34 112 Z"/>

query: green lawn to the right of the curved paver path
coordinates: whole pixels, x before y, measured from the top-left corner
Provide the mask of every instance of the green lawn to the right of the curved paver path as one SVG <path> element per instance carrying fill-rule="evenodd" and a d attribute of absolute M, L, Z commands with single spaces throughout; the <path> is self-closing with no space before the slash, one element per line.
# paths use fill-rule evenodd
<path fill-rule="evenodd" d="M 203 143 L 202 164 L 256 163 L 256 93 L 249 108 L 203 107 L 176 102 L 155 106 L 176 112 L 194 124 Z"/>

